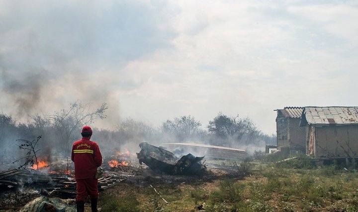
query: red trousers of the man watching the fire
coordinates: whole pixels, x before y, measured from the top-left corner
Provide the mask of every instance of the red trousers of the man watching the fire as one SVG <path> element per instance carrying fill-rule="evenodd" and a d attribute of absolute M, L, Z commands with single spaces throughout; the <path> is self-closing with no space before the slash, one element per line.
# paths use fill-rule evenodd
<path fill-rule="evenodd" d="M 97 185 L 98 180 L 94 178 L 76 179 L 76 203 L 86 202 L 88 196 L 90 199 L 96 199 L 99 196 Z"/>

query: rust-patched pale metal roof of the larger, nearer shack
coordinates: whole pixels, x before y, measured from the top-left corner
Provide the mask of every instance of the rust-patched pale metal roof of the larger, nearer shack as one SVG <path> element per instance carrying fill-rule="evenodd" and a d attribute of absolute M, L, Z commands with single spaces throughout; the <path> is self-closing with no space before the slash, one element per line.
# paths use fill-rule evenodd
<path fill-rule="evenodd" d="M 300 126 L 307 123 L 315 126 L 358 124 L 357 106 L 308 106 L 302 114 Z"/>

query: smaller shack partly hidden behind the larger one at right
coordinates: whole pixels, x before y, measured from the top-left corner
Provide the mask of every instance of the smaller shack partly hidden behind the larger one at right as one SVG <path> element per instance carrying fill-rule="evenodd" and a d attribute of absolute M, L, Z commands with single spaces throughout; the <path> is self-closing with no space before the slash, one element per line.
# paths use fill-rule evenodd
<path fill-rule="evenodd" d="M 277 148 L 288 147 L 292 151 L 306 152 L 306 130 L 299 123 L 304 107 L 277 109 Z"/>

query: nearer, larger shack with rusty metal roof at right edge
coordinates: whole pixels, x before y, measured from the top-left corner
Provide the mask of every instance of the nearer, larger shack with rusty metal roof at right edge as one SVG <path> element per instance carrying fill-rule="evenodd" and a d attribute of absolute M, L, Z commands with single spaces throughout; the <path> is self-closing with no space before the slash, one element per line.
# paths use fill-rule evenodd
<path fill-rule="evenodd" d="M 308 106 L 302 111 L 306 153 L 318 159 L 358 158 L 358 107 Z"/>

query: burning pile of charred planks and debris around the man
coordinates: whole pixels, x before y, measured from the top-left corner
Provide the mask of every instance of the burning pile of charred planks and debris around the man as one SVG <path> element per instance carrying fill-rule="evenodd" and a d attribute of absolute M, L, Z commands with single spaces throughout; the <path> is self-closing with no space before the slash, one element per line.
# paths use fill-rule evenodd
<path fill-rule="evenodd" d="M 110 160 L 103 161 L 105 174 L 98 179 L 98 191 L 111 188 L 123 180 L 133 177 L 130 167 L 119 165 L 110 167 Z M 117 157 L 118 164 L 125 164 L 123 158 Z M 0 209 L 16 209 L 23 207 L 27 211 L 56 211 L 59 208 L 71 212 L 72 206 L 61 203 L 60 199 L 74 199 L 76 196 L 76 181 L 74 179 L 73 163 L 64 158 L 55 162 L 40 158 L 38 167 L 26 169 L 11 169 L 0 172 Z M 127 164 L 128 165 L 128 164 Z M 123 167 L 126 167 L 125 170 Z M 39 198 L 34 200 L 35 198 Z M 46 197 L 46 198 L 44 198 Z M 32 201 L 34 200 L 34 201 Z M 71 204 L 70 204 L 71 205 Z M 39 210 L 32 210 L 33 207 Z M 41 209 L 41 210 L 40 210 Z M 56 209 L 56 210 L 55 210 Z M 1 211 L 1 210 L 0 210 Z"/>

